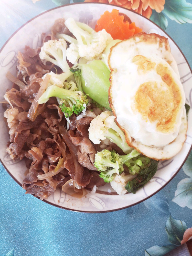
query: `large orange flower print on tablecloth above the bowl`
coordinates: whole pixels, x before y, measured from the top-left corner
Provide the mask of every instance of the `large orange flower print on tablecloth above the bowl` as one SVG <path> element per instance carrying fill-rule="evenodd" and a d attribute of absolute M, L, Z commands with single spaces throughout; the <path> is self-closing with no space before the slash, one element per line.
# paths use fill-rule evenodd
<path fill-rule="evenodd" d="M 152 9 L 160 13 L 164 9 L 165 0 L 85 0 L 85 2 L 109 3 L 133 10 L 150 18 Z"/>

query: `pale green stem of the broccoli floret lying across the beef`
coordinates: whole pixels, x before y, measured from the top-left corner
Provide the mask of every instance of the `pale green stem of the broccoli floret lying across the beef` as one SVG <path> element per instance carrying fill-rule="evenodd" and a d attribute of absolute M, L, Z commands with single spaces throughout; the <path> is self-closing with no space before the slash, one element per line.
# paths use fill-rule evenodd
<path fill-rule="evenodd" d="M 69 99 L 69 100 L 77 100 L 78 97 L 78 91 L 69 91 L 64 88 L 60 88 L 56 85 L 49 86 L 47 90 L 41 95 L 41 97 L 38 100 L 39 104 L 45 103 L 49 100 L 50 97 L 58 97 L 60 99 Z"/>

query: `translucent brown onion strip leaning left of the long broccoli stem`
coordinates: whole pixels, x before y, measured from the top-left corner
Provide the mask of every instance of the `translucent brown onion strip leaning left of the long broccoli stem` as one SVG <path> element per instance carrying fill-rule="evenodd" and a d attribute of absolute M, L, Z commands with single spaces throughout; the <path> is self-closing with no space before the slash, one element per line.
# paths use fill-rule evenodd
<path fill-rule="evenodd" d="M 47 86 L 48 86 L 50 78 L 51 78 L 50 75 L 46 75 L 45 79 L 43 80 L 43 82 L 41 84 L 41 87 L 39 88 L 38 93 L 35 96 L 35 99 L 33 100 L 32 104 L 31 104 L 31 107 L 30 107 L 29 112 L 27 114 L 27 117 L 31 121 L 35 121 L 35 119 L 36 119 L 36 117 L 38 115 L 38 111 L 37 111 L 37 108 L 39 106 L 38 99 L 41 97 L 41 95 L 47 89 Z"/>

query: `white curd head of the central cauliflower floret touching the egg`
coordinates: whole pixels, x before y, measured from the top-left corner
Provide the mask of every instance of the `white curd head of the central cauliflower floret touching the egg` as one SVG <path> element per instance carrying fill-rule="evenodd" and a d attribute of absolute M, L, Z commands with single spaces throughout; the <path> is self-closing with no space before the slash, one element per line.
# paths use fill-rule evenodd
<path fill-rule="evenodd" d="M 112 117 L 114 120 L 114 116 L 112 116 L 111 111 L 104 111 L 101 112 L 100 115 L 95 117 L 89 127 L 89 139 L 94 143 L 94 144 L 100 144 L 100 140 L 105 140 L 105 134 L 108 133 L 108 127 L 105 125 L 105 121 L 109 116 Z"/>

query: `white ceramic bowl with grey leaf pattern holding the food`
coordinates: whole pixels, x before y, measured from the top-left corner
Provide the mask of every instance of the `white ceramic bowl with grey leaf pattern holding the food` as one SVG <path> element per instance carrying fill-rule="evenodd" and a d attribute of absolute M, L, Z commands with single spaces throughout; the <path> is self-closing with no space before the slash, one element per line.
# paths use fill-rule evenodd
<path fill-rule="evenodd" d="M 190 67 L 174 41 L 157 25 L 149 19 L 134 13 L 119 6 L 100 4 L 100 3 L 79 3 L 70 4 L 66 6 L 57 7 L 48 10 L 35 18 L 29 20 L 25 25 L 20 27 L 9 40 L 5 43 L 0 51 L 0 76 L 1 76 L 1 100 L 7 88 L 11 87 L 5 74 L 9 70 L 12 74 L 16 73 L 15 67 L 17 63 L 17 52 L 29 45 L 32 48 L 40 46 L 41 33 L 50 30 L 54 21 L 58 18 L 64 17 L 65 19 L 73 17 L 77 21 L 91 24 L 94 27 L 96 20 L 104 13 L 105 10 L 112 11 L 113 8 L 119 12 L 126 14 L 130 17 L 136 26 L 141 27 L 146 33 L 157 33 L 169 39 L 171 51 L 178 64 L 180 78 L 185 90 L 186 103 L 191 103 L 192 92 L 192 74 Z M 39 24 L 41 24 L 39 26 Z M 5 153 L 6 144 L 9 141 L 6 125 L 3 120 L 4 109 L 0 107 L 0 159 L 8 173 L 15 179 L 18 184 L 22 184 L 25 177 L 26 166 L 24 161 L 13 162 L 9 155 Z M 182 150 L 172 159 L 159 162 L 158 170 L 150 182 L 148 182 L 142 189 L 138 190 L 136 194 L 116 195 L 112 188 L 106 184 L 104 187 L 99 187 L 95 194 L 90 193 L 81 199 L 77 199 L 63 193 L 57 189 L 45 202 L 54 206 L 82 211 L 82 212 L 106 212 L 123 209 L 151 197 L 162 189 L 179 171 L 184 164 L 192 144 L 192 111 L 190 109 L 188 114 L 188 130 L 187 139 L 183 145 Z M 27 195 L 31 196 L 31 195 Z"/>

